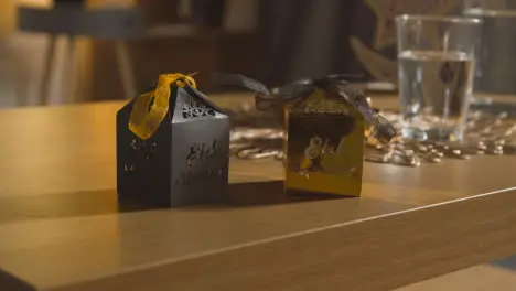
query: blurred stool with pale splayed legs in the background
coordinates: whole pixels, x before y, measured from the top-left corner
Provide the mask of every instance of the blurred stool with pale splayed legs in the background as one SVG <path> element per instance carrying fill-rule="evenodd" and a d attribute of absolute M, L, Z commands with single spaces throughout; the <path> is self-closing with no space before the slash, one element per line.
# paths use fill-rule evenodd
<path fill-rule="evenodd" d="M 80 1 L 57 1 L 52 9 L 20 7 L 18 29 L 22 32 L 45 33 L 50 35 L 43 69 L 43 80 L 37 103 L 49 103 L 49 85 L 54 74 L 58 36 L 67 40 L 67 64 L 62 82 L 65 98 L 76 94 L 76 37 L 107 39 L 116 42 L 116 60 L 126 97 L 136 96 L 135 73 L 129 56 L 127 41 L 143 34 L 144 23 L 138 8 L 86 9 Z"/>

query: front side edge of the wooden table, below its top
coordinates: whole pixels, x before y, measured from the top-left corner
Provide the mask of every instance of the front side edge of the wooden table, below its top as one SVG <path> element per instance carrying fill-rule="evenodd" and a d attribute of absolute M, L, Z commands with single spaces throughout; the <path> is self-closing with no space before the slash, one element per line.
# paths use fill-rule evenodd
<path fill-rule="evenodd" d="M 389 290 L 514 254 L 515 203 L 497 191 L 32 290 Z"/>

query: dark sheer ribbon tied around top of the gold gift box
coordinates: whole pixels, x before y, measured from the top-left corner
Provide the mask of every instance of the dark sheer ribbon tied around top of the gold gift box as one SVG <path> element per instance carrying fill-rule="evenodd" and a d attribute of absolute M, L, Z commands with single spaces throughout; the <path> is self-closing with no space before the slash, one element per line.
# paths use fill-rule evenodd
<path fill-rule="evenodd" d="M 217 74 L 215 77 L 222 85 L 239 86 L 252 90 L 256 94 L 256 107 L 259 110 L 269 110 L 284 106 L 289 101 L 308 98 L 320 88 L 355 107 L 370 126 L 370 134 L 379 142 L 388 143 L 397 134 L 396 128 L 369 105 L 366 95 L 345 80 L 350 77 L 346 74 L 329 75 L 318 79 L 300 79 L 271 90 L 260 82 L 239 74 Z"/>

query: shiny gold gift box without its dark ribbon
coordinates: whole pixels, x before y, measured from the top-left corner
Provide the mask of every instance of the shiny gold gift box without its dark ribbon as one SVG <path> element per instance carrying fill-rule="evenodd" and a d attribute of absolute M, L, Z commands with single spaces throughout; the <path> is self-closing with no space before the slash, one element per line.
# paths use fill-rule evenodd
<path fill-rule="evenodd" d="M 342 98 L 315 89 L 284 106 L 284 188 L 359 196 L 364 118 Z"/>

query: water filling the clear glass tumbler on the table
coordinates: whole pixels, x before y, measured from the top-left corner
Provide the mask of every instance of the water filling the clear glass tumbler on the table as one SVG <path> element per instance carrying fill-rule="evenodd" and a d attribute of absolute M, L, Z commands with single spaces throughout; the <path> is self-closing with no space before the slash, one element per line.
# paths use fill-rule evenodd
<path fill-rule="evenodd" d="M 474 76 L 473 56 L 454 51 L 398 54 L 400 108 L 410 139 L 461 139 Z"/>

